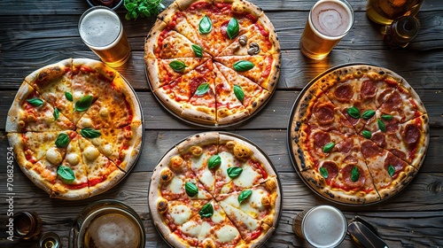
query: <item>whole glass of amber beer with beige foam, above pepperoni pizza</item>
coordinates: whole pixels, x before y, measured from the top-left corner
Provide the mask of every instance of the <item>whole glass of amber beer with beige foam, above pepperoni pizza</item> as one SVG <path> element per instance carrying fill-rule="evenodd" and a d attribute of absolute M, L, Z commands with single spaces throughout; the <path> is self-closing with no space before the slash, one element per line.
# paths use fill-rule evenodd
<path fill-rule="evenodd" d="M 320 0 L 309 12 L 300 50 L 307 58 L 325 58 L 353 25 L 354 10 L 346 0 Z"/>

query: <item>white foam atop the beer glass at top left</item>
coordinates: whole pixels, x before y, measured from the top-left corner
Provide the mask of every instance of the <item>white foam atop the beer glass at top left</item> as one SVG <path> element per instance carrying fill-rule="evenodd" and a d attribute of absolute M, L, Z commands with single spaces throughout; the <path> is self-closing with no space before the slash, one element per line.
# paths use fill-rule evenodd
<path fill-rule="evenodd" d="M 93 47 L 109 46 L 120 36 L 120 19 L 107 10 L 89 12 L 82 19 L 79 33 L 83 41 Z"/>

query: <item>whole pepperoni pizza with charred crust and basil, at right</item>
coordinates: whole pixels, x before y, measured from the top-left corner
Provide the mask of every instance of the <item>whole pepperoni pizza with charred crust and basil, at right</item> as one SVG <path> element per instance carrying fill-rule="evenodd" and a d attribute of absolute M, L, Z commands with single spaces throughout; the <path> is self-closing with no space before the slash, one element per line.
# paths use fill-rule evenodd
<path fill-rule="evenodd" d="M 377 66 L 320 75 L 294 105 L 291 156 L 313 190 L 354 205 L 390 198 L 422 166 L 428 115 L 408 82 Z"/>

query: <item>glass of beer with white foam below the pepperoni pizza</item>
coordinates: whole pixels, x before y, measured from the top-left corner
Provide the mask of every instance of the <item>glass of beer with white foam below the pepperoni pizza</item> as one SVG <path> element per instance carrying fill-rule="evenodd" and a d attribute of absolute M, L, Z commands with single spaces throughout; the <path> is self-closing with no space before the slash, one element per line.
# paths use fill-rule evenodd
<path fill-rule="evenodd" d="M 314 247 L 337 247 L 346 237 L 347 221 L 337 208 L 318 205 L 297 214 L 292 229 Z"/>

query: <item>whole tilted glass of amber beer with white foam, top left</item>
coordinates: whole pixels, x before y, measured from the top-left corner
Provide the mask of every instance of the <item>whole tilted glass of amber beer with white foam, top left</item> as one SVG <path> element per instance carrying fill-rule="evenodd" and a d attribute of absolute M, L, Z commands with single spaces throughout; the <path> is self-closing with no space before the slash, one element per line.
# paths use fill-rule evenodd
<path fill-rule="evenodd" d="M 121 66 L 128 61 L 131 48 L 119 16 L 111 9 L 90 8 L 82 14 L 78 29 L 83 43 L 106 65 Z"/>

